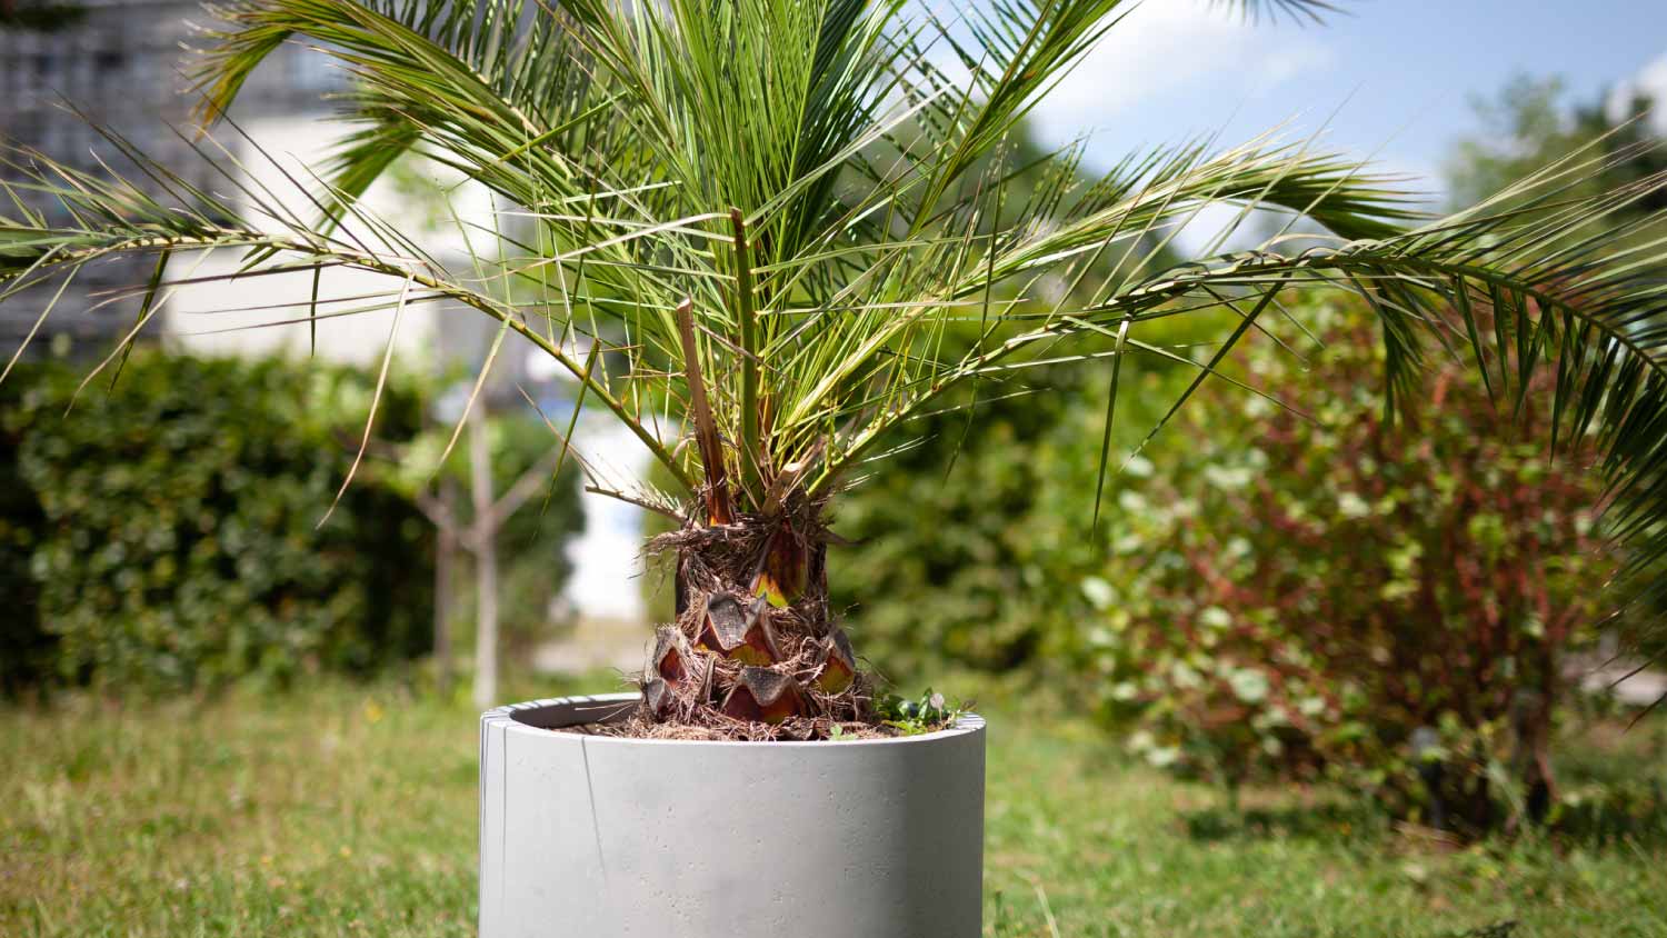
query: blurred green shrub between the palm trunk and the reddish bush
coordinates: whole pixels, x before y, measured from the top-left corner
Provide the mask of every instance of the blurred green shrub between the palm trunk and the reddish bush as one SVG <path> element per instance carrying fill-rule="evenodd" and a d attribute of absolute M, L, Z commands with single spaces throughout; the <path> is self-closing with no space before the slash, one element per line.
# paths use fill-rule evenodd
<path fill-rule="evenodd" d="M 1164 342 L 1192 335 L 1169 328 Z M 1114 453 L 1129 452 L 1189 378 L 1159 358 L 1132 362 Z M 1095 365 L 992 382 L 979 388 L 970 422 L 972 398 L 952 400 L 920 433 L 932 445 L 890 457 L 887 471 L 839 503 L 835 530 L 855 546 L 830 551 L 834 608 L 894 678 L 945 665 L 1035 675 L 1074 666 L 1069 655 L 1094 615 L 1077 583 L 1104 560 L 1094 490 L 1105 392 Z M 1114 510 L 1102 511 L 1100 531 Z"/>

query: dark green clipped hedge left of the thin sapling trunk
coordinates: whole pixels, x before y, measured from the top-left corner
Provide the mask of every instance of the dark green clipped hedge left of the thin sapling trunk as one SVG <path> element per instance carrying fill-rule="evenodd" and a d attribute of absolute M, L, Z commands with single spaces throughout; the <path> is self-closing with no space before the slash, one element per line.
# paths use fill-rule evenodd
<path fill-rule="evenodd" d="M 0 387 L 3 680 L 180 690 L 370 671 L 428 648 L 432 528 L 375 473 L 317 528 L 370 383 L 307 363 L 135 353 L 113 392 Z M 382 440 L 420 400 L 390 387 Z"/>

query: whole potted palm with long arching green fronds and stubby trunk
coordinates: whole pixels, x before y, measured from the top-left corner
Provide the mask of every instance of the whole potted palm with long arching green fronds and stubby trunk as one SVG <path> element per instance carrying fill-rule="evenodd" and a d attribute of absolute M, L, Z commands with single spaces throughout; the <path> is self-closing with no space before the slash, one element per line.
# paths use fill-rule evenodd
<path fill-rule="evenodd" d="M 1602 443 L 1634 570 L 1664 556 L 1667 247 L 1605 252 L 1602 228 L 1664 180 L 1577 195 L 1627 157 L 1580 153 L 1432 218 L 1314 142 L 1159 148 L 1085 183 L 1080 147 L 1019 165 L 1020 122 L 1127 7 L 992 0 L 945 18 L 904 0 L 240 0 L 193 72 L 205 117 L 292 38 L 355 77 L 358 128 L 320 172 L 318 215 L 228 175 L 232 205 L 118 138 L 147 188 L 13 152 L 0 278 L 15 292 L 158 255 L 138 323 L 93 373 L 118 368 L 155 315 L 167 258 L 198 248 L 247 250 L 240 278 L 377 272 L 395 330 L 407 305 L 445 300 L 540 348 L 675 486 L 613 491 L 678 518 L 657 545 L 677 555 L 677 621 L 642 676 L 657 721 L 805 735 L 864 718 L 870 686 L 825 586 L 837 495 L 919 443 L 910 422 L 964 400 L 950 392 L 1072 358 L 1107 370 L 1104 488 L 1124 358 L 1195 368 L 1180 407 L 1210 375 L 1232 380 L 1235 342 L 1287 315 L 1287 290 L 1372 303 L 1390 408 L 1430 350 L 1474 357 L 1502 395 L 1554 368 L 1564 433 Z M 405 153 L 478 180 L 523 225 L 447 270 L 357 202 Z M 42 195 L 72 222 L 27 208 Z M 1272 208 L 1304 235 L 1287 225 L 1255 250 L 1219 240 L 1162 263 L 1220 205 L 1229 230 Z M 1200 360 L 1142 338 L 1174 317 L 1227 325 Z"/>

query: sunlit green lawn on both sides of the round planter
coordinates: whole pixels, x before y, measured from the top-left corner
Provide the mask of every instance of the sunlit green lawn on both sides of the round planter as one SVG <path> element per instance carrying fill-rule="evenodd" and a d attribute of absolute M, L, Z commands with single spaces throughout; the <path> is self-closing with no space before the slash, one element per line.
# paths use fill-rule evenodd
<path fill-rule="evenodd" d="M 582 683 L 527 695 L 608 685 Z M 1229 811 L 1087 725 L 992 715 L 987 935 L 1667 935 L 1659 818 L 1442 851 L 1335 796 Z M 1579 760 L 1654 760 L 1659 790 L 1659 730 Z M 0 935 L 472 935 L 475 746 L 462 700 L 387 683 L 0 710 Z"/>

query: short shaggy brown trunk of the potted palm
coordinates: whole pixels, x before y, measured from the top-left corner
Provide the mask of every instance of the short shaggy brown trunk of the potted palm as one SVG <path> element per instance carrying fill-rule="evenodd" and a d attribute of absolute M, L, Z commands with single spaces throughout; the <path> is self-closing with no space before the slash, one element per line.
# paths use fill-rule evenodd
<path fill-rule="evenodd" d="M 828 615 L 820 508 L 790 503 L 650 541 L 677 555 L 678 611 L 643 668 L 648 720 L 812 738 L 865 718 L 869 680 Z"/>

